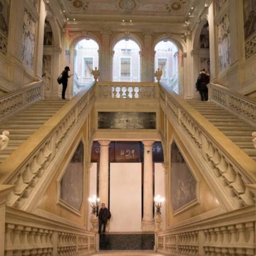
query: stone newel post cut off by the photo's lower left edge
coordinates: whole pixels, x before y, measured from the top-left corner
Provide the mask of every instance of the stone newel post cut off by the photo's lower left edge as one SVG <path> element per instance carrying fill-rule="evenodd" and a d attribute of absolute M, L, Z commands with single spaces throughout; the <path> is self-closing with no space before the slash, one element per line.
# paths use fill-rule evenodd
<path fill-rule="evenodd" d="M 6 225 L 6 202 L 13 190 L 13 185 L 0 185 L 0 256 L 4 256 L 4 237 Z"/>

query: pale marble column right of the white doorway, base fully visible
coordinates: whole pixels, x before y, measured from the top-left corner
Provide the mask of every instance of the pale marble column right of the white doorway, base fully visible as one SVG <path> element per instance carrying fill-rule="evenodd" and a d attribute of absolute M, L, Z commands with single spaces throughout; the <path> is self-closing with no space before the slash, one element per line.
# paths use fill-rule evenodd
<path fill-rule="evenodd" d="M 145 140 L 144 144 L 144 186 L 143 186 L 143 218 L 142 231 L 154 231 L 153 216 L 153 159 L 152 145 L 154 141 Z"/>

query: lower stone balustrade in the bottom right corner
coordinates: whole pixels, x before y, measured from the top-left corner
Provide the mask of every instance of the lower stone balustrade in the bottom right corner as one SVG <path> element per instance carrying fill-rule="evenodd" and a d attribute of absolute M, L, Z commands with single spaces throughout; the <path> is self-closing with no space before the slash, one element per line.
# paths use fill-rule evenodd
<path fill-rule="evenodd" d="M 156 234 L 157 252 L 171 255 L 255 255 L 255 208 L 180 224 Z"/>

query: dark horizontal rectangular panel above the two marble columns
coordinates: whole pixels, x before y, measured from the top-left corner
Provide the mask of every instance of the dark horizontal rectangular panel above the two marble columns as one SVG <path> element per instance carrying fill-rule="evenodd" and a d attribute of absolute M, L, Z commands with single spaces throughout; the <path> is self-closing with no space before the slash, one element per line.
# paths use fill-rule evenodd
<path fill-rule="evenodd" d="M 98 129 L 156 129 L 156 113 L 98 112 Z"/>

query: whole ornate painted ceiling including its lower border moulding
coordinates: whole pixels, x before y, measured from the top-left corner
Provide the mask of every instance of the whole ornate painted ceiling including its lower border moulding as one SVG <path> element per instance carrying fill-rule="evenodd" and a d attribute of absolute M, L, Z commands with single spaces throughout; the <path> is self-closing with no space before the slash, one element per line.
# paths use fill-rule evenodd
<path fill-rule="evenodd" d="M 199 0 L 58 0 L 72 21 L 184 22 Z"/>

